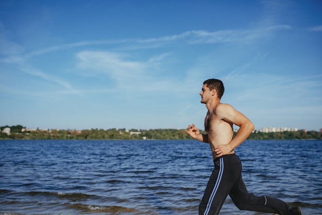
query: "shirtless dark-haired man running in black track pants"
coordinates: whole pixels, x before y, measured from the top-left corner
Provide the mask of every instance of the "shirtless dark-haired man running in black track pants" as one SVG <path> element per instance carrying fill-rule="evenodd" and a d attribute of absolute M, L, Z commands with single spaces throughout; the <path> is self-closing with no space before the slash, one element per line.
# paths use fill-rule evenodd
<path fill-rule="evenodd" d="M 255 127 L 231 105 L 220 103 L 223 94 L 224 85 L 221 80 L 206 80 L 200 95 L 201 103 L 206 104 L 208 109 L 205 118 L 207 134 L 201 134 L 194 124 L 185 130 L 194 139 L 209 143 L 213 156 L 214 169 L 199 205 L 199 214 L 218 214 L 229 194 L 240 210 L 301 215 L 300 207 L 290 208 L 281 200 L 248 193 L 242 180 L 241 161 L 234 149 L 247 139 Z M 234 138 L 233 124 L 240 127 Z"/>

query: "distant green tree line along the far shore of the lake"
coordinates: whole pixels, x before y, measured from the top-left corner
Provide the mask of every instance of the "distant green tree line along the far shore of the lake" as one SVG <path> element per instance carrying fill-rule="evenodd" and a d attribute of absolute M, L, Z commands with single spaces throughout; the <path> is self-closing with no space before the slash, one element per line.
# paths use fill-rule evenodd
<path fill-rule="evenodd" d="M 0 127 L 1 131 L 10 128 L 10 135 L 0 133 L 0 139 L 192 139 L 181 129 L 91 129 L 91 130 L 35 130 L 22 131 L 23 126 Z M 205 133 L 204 131 L 201 131 Z M 236 132 L 235 132 L 236 135 Z M 253 132 L 247 139 L 322 139 L 322 134 L 316 131 L 304 130 L 295 132 Z"/>

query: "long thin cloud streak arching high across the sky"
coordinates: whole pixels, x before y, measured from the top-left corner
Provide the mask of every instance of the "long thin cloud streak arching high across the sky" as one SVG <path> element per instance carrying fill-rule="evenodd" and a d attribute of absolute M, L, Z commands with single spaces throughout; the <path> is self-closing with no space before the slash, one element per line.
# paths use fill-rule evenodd
<path fill-rule="evenodd" d="M 158 48 L 160 46 L 173 45 L 173 43 L 184 44 L 207 44 L 207 43 L 228 43 L 228 42 L 251 42 L 255 39 L 267 37 L 276 30 L 287 30 L 291 27 L 288 25 L 269 25 L 267 27 L 260 27 L 246 30 L 219 30 L 219 31 L 206 31 L 206 30 L 190 30 L 180 34 L 166 35 L 158 38 L 147 39 L 123 39 L 123 40 L 98 40 L 98 41 L 81 41 L 76 43 L 62 44 L 51 46 L 40 50 L 34 50 L 26 57 L 42 55 L 44 53 L 55 52 L 63 49 L 71 49 L 75 47 L 84 46 L 99 46 L 99 45 L 119 45 L 119 49 L 147 49 Z M 316 27 L 316 29 L 319 29 Z M 23 48 L 10 41 L 4 41 L 3 46 L 7 48 L 6 53 L 20 53 Z M 0 41 L 1 45 L 1 41 Z"/>

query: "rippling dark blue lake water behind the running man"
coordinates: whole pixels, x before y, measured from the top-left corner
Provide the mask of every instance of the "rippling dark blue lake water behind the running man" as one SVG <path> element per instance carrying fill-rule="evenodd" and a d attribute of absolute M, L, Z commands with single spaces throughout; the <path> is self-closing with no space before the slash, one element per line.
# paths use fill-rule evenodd
<path fill-rule="evenodd" d="M 198 214 L 213 169 L 196 140 L 0 140 L 0 214 Z M 248 191 L 322 214 L 321 140 L 247 140 Z M 240 211 L 229 199 L 220 214 Z"/>

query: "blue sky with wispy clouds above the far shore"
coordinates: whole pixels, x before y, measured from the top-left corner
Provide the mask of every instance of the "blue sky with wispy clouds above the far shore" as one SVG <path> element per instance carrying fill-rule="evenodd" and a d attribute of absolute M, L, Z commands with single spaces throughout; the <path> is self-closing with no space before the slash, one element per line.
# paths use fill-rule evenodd
<path fill-rule="evenodd" d="M 0 2 L 0 126 L 203 129 L 202 83 L 256 129 L 322 128 L 322 2 Z"/>

